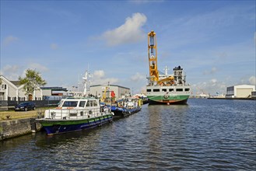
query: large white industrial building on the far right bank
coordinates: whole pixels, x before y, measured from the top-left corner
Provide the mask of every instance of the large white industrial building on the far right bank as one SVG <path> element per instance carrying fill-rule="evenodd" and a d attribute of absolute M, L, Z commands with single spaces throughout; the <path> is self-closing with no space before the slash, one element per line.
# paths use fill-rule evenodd
<path fill-rule="evenodd" d="M 227 98 L 251 98 L 252 92 L 255 91 L 255 86 L 238 85 L 226 88 Z"/>

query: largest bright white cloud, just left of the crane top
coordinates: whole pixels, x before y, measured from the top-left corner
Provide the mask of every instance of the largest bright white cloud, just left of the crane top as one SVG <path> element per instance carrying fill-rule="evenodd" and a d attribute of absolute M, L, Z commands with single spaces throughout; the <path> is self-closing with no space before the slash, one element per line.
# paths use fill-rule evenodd
<path fill-rule="evenodd" d="M 142 31 L 142 26 L 144 26 L 146 20 L 144 14 L 134 13 L 132 18 L 126 18 L 123 25 L 103 33 L 102 38 L 107 41 L 109 46 L 139 42 L 146 37 L 146 34 Z"/>

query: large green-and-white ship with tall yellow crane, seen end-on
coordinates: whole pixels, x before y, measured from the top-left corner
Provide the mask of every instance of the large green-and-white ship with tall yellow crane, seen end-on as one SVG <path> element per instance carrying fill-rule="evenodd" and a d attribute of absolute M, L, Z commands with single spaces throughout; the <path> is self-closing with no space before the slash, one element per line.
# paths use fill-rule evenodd
<path fill-rule="evenodd" d="M 186 75 L 181 66 L 174 68 L 174 74 L 160 74 L 157 69 L 156 33 L 148 33 L 149 83 L 146 86 L 146 96 L 149 103 L 187 103 L 190 96 L 190 86 L 186 83 Z"/>

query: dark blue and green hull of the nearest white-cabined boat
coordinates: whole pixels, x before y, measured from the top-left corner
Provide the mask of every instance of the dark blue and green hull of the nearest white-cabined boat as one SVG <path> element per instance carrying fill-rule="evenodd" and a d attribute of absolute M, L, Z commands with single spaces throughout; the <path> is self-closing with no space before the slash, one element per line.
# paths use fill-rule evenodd
<path fill-rule="evenodd" d="M 102 124 L 107 124 L 113 120 L 113 115 L 104 115 L 101 117 L 94 117 L 82 120 L 51 120 L 51 119 L 39 119 L 39 122 L 48 135 L 61 134 L 72 131 L 81 131 L 82 129 L 88 129 L 97 127 Z"/>

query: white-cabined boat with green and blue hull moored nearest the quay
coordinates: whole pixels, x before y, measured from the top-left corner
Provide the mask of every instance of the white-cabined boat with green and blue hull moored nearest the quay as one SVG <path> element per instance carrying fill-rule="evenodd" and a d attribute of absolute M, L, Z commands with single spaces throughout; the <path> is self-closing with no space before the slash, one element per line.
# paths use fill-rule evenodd
<path fill-rule="evenodd" d="M 45 110 L 44 118 L 37 119 L 48 135 L 81 131 L 101 126 L 113 120 L 107 106 L 100 106 L 94 97 L 68 97 L 61 99 L 58 107 Z"/>

